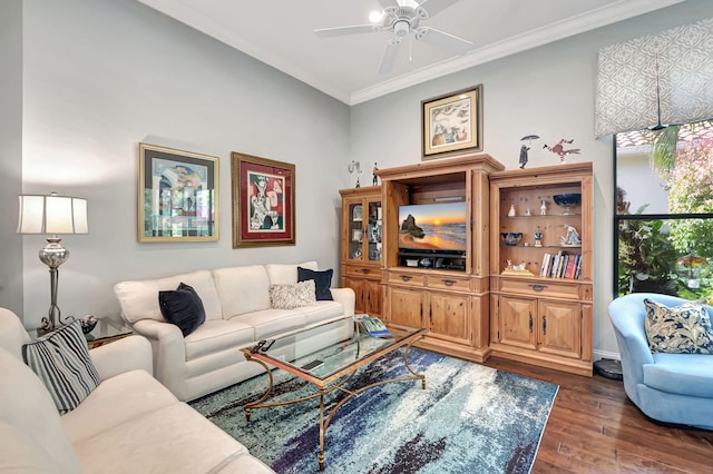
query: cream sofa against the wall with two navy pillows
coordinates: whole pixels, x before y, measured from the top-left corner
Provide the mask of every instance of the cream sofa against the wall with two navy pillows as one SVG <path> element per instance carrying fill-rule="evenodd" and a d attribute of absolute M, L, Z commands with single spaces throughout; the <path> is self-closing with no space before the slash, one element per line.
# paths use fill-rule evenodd
<path fill-rule="evenodd" d="M 114 293 L 121 317 L 152 343 L 156 378 L 178 399 L 192 401 L 264 371 L 258 364 L 246 362 L 241 348 L 354 314 L 351 288 L 331 288 L 334 300 L 319 300 L 311 306 L 271 307 L 270 285 L 297 283 L 297 267 L 318 270 L 315 261 L 203 269 L 121 282 L 115 285 Z M 196 290 L 205 308 L 205 323 L 185 338 L 176 325 L 164 319 L 158 304 L 159 290 L 176 289 L 180 283 Z M 351 330 L 352 324 L 345 319 L 319 334 L 313 339 L 314 348 L 338 342 Z"/>

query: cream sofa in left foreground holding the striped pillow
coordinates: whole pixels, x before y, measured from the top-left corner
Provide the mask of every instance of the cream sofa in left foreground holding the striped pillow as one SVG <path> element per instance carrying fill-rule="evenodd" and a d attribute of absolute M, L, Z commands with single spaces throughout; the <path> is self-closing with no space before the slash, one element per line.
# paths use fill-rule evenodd
<path fill-rule="evenodd" d="M 22 362 L 29 342 L 14 313 L 0 308 L 0 472 L 273 472 L 152 377 L 145 338 L 89 350 L 100 384 L 61 416 Z"/>

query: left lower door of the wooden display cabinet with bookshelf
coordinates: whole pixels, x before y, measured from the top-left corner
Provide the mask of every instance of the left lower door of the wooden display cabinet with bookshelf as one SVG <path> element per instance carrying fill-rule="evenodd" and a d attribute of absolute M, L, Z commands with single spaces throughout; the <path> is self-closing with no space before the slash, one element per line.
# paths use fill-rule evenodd
<path fill-rule="evenodd" d="M 537 299 L 500 296 L 500 344 L 537 349 L 535 324 Z"/>

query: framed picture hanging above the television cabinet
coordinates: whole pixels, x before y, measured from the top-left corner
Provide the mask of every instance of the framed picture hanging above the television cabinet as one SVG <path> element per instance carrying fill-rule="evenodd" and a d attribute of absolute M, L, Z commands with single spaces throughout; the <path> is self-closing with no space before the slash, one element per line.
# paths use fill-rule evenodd
<path fill-rule="evenodd" d="M 482 151 L 482 85 L 421 101 L 422 160 Z"/>

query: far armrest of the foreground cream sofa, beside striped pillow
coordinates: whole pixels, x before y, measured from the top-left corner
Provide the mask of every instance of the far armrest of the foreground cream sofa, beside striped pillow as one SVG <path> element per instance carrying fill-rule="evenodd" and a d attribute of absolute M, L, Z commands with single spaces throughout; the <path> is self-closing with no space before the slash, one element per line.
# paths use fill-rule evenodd
<path fill-rule="evenodd" d="M 89 350 L 99 377 L 105 381 L 136 368 L 154 373 L 152 345 L 141 336 L 127 336 Z"/>

